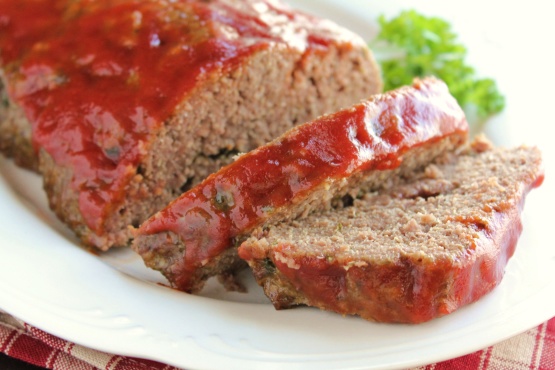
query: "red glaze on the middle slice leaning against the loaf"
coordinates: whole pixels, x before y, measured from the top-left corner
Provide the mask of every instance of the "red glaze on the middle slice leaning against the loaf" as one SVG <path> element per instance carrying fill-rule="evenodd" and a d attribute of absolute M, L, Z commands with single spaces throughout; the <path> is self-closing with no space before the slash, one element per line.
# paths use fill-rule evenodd
<path fill-rule="evenodd" d="M 398 167 L 414 147 L 452 134 L 464 137 L 464 113 L 437 80 L 391 92 L 297 127 L 240 157 L 148 220 L 140 234 L 171 231 L 186 245 L 174 284 L 187 290 L 206 261 L 272 213 L 300 201 L 329 179 Z"/>

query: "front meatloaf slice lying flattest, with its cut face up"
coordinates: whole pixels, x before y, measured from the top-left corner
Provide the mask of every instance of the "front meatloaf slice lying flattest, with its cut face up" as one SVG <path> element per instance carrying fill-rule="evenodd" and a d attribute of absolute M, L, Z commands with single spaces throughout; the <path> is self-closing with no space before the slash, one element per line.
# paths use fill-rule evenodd
<path fill-rule="evenodd" d="M 542 180 L 538 149 L 477 140 L 352 207 L 258 229 L 239 255 L 277 309 L 420 323 L 500 282 Z"/>

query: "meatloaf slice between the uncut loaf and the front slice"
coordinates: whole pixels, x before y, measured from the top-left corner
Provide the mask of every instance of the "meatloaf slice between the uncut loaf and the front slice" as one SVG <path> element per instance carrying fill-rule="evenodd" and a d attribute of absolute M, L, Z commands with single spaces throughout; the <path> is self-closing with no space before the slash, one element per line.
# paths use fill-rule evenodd
<path fill-rule="evenodd" d="M 254 228 L 386 186 L 459 146 L 467 130 L 442 81 L 416 80 L 239 157 L 146 221 L 133 248 L 174 287 L 198 291 L 242 266 L 236 247 Z"/>

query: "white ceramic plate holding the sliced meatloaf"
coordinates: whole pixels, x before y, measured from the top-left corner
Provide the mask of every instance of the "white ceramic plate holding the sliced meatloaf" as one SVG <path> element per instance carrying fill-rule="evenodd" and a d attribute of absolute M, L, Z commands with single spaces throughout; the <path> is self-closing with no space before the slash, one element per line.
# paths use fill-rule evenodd
<path fill-rule="evenodd" d="M 548 2 L 296 0 L 367 39 L 378 14 L 402 8 L 450 19 L 470 61 L 497 78 L 505 113 L 486 131 L 502 145 L 536 144 L 547 177 L 528 197 L 524 233 L 501 285 L 479 302 L 417 326 L 374 324 L 312 308 L 275 311 L 245 274 L 248 294 L 210 284 L 202 296 L 173 291 L 130 251 L 80 248 L 50 213 L 40 179 L 0 159 L 0 308 L 95 349 L 193 368 L 393 369 L 453 358 L 555 316 L 553 30 Z M 384 4 L 387 3 L 387 4 Z M 502 4 L 503 17 L 497 13 Z M 476 5 L 476 6 L 474 6 Z M 550 41 L 550 40 L 549 40 Z M 550 59 L 551 58 L 551 59 Z M 551 93 L 551 95 L 553 95 Z"/>

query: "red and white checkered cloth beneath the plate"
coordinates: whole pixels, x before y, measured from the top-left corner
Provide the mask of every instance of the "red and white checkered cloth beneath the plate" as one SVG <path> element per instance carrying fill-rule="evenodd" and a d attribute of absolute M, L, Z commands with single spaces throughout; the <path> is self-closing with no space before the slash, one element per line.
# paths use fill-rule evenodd
<path fill-rule="evenodd" d="M 79 346 L 0 311 L 0 352 L 53 370 L 174 370 L 159 362 Z M 481 351 L 414 370 L 555 370 L 555 318 Z"/>

